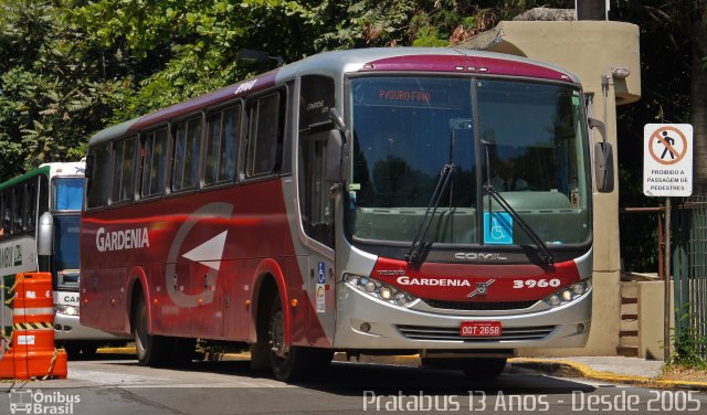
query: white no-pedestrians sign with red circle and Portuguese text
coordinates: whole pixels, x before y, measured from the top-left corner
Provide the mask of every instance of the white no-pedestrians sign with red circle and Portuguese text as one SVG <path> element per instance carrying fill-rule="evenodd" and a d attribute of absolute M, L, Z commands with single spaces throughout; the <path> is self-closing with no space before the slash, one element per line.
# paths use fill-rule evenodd
<path fill-rule="evenodd" d="M 693 194 L 693 126 L 646 124 L 643 128 L 643 193 Z"/>

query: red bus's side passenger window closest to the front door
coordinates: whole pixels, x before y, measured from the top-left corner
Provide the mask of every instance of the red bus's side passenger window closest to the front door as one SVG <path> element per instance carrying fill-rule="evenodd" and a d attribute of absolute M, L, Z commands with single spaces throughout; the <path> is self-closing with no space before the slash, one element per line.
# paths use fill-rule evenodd
<path fill-rule="evenodd" d="M 257 97 L 249 103 L 246 177 L 276 173 L 282 164 L 285 110 L 281 93 Z"/>

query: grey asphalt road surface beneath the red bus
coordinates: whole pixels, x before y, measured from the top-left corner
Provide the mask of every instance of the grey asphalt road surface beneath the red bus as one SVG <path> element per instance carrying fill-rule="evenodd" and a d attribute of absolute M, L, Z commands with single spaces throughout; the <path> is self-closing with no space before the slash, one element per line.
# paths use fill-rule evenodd
<path fill-rule="evenodd" d="M 104 358 L 102 358 L 104 359 Z M 334 363 L 285 384 L 247 362 L 151 369 L 134 360 L 72 361 L 67 380 L 2 383 L 0 414 L 663 414 L 705 413 L 707 394 L 627 387 L 507 368 L 498 379 L 454 371 Z M 13 404 L 13 405 L 12 405 Z"/>

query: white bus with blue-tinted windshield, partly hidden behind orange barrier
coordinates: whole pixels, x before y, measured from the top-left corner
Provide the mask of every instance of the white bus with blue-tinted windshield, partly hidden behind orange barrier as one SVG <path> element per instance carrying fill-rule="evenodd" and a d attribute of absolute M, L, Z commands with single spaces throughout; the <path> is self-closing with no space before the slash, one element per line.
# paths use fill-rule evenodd
<path fill-rule="evenodd" d="M 54 333 L 70 355 L 93 354 L 99 341 L 115 340 L 78 321 L 78 226 L 83 204 L 82 162 L 54 162 L 0 184 L 0 275 L 52 273 Z M 6 312 L 12 327 L 12 313 Z"/>

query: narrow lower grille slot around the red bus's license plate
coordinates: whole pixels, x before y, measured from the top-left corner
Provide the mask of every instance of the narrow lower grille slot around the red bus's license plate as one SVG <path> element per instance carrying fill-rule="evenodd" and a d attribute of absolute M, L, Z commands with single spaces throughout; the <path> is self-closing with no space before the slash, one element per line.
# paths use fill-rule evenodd
<path fill-rule="evenodd" d="M 504 327 L 498 337 L 462 337 L 458 327 L 428 327 L 428 326 L 398 326 L 398 330 L 410 340 L 429 341 L 461 341 L 467 343 L 493 343 L 498 341 L 527 341 L 542 340 L 548 337 L 556 326 L 540 327 Z"/>

